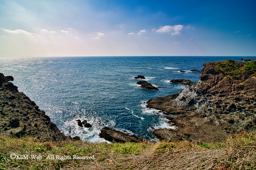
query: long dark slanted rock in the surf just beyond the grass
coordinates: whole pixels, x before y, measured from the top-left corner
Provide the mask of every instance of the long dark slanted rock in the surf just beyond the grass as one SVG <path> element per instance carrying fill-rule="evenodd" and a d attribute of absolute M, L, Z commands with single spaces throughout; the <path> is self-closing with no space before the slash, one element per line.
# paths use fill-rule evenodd
<path fill-rule="evenodd" d="M 144 138 L 141 138 L 137 135 L 128 135 L 126 133 L 123 133 L 121 131 L 114 130 L 109 127 L 103 127 L 101 129 L 101 133 L 99 134 L 99 137 L 106 139 L 110 142 L 143 142 Z"/>

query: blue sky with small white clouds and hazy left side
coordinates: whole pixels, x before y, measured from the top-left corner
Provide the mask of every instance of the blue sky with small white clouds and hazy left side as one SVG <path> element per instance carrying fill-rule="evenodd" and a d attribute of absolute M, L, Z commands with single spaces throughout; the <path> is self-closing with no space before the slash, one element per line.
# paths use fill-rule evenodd
<path fill-rule="evenodd" d="M 0 57 L 256 56 L 255 0 L 0 0 Z"/>

